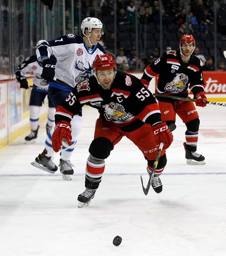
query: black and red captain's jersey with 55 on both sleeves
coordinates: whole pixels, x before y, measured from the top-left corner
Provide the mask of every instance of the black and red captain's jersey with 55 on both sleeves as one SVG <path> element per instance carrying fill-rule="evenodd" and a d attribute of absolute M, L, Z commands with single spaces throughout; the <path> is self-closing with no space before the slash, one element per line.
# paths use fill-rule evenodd
<path fill-rule="evenodd" d="M 151 92 L 131 74 L 118 71 L 111 89 L 104 90 L 94 76 L 77 84 L 68 98 L 56 108 L 55 122 L 71 118 L 83 105 L 99 111 L 101 117 L 120 127 L 135 130 L 144 123 L 161 122 L 158 104 Z"/>

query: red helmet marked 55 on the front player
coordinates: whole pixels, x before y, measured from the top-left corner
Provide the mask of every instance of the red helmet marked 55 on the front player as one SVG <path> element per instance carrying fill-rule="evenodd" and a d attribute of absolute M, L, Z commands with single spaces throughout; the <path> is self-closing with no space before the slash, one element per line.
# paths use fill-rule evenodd
<path fill-rule="evenodd" d="M 94 71 L 114 69 L 116 68 L 116 63 L 111 54 L 97 54 L 96 58 L 94 59 L 93 67 Z"/>

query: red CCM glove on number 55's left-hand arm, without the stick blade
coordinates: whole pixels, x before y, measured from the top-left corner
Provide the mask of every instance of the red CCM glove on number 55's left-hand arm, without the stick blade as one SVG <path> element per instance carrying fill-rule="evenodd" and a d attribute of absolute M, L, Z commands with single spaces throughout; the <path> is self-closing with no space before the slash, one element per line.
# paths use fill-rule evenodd
<path fill-rule="evenodd" d="M 67 144 L 71 146 L 71 124 L 66 121 L 56 123 L 54 133 L 52 134 L 52 148 L 55 152 L 61 150 L 62 140 L 66 139 Z"/>

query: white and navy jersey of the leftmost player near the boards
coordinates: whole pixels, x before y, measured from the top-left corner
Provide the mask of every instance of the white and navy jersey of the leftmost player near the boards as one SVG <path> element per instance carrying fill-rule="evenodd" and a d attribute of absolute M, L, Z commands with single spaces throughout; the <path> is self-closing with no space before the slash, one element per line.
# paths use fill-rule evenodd
<path fill-rule="evenodd" d="M 32 73 L 34 75 L 33 84 L 39 88 L 48 89 L 48 84 L 41 78 L 42 66 L 38 64 L 36 55 L 25 59 L 14 69 L 14 73 L 18 82 L 21 77 L 25 77 L 26 73 Z"/>

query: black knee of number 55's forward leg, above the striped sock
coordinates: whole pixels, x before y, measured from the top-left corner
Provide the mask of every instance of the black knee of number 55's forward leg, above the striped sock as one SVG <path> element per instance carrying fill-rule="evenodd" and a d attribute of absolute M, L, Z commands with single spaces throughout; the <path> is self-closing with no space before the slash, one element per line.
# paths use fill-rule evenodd
<path fill-rule="evenodd" d="M 113 145 L 108 138 L 99 137 L 95 138 L 89 146 L 89 153 L 94 158 L 105 159 L 111 153 Z"/>

